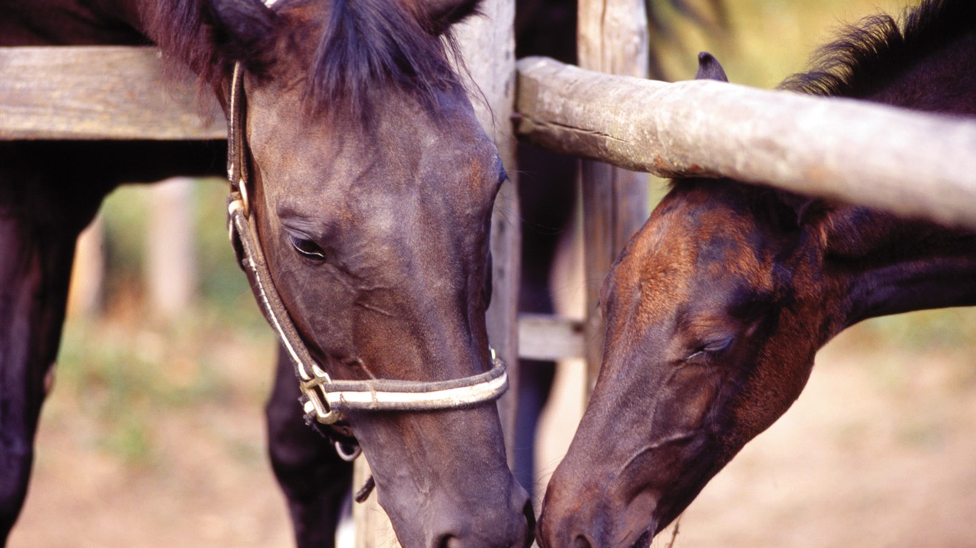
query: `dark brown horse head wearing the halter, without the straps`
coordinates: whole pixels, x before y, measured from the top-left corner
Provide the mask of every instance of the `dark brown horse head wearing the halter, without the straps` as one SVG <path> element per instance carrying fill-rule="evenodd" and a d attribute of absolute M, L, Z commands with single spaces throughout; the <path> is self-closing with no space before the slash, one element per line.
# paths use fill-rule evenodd
<path fill-rule="evenodd" d="M 442 40 L 476 2 L 211 5 L 243 53 L 246 208 L 315 369 L 393 382 L 489 370 L 489 220 L 506 176 Z M 492 402 L 345 418 L 401 544 L 531 542 Z"/>

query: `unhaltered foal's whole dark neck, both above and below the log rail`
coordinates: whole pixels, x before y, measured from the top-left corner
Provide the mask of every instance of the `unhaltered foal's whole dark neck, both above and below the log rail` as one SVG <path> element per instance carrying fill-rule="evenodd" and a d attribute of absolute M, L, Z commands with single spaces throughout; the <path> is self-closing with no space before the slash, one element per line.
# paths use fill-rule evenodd
<path fill-rule="evenodd" d="M 976 71 L 960 69 L 974 65 L 976 30 L 970 29 L 878 78 L 883 87 L 861 98 L 976 115 Z M 846 309 L 837 332 L 877 316 L 976 304 L 976 233 L 853 206 L 833 209 L 820 226 L 825 272 L 834 274 Z"/>

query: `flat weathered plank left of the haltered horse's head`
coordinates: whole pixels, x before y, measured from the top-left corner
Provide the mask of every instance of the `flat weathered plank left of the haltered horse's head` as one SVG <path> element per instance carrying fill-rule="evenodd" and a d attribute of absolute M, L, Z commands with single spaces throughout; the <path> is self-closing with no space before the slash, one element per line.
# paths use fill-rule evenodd
<path fill-rule="evenodd" d="M 200 99 L 155 48 L 0 48 L 0 140 L 225 138 L 216 98 Z"/>

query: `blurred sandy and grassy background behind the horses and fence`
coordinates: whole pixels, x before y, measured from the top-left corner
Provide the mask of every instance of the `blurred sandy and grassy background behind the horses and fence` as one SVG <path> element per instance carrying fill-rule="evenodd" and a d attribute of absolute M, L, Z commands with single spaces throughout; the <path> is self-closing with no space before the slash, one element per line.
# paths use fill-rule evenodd
<path fill-rule="evenodd" d="M 905 6 L 726 4 L 724 33 L 661 9 L 671 32 L 654 41 L 669 79 L 692 78 L 706 50 L 731 81 L 771 88 L 839 24 Z M 274 337 L 227 245 L 225 195 L 223 181 L 177 179 L 106 201 L 87 248 L 98 253 L 81 252 L 12 548 L 292 545 L 264 451 Z M 581 294 L 578 278 L 562 284 Z M 540 485 L 581 412 L 581 369 L 558 374 L 567 395 L 544 419 Z M 793 409 L 715 478 L 679 528 L 673 545 L 689 548 L 976 547 L 976 309 L 842 333 Z"/>

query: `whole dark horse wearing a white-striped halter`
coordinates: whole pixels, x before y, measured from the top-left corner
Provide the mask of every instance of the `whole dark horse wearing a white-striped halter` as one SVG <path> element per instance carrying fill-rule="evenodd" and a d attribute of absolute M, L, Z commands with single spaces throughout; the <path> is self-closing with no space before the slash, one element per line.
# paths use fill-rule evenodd
<path fill-rule="evenodd" d="M 322 431 L 354 433 L 402 545 L 531 543 L 484 317 L 489 218 L 506 173 L 451 64 L 451 27 L 477 7 L 0 0 L 0 45 L 153 43 L 217 96 L 230 129 L 226 149 L 0 144 L 0 544 L 27 490 L 78 233 L 120 182 L 213 173 L 224 156 L 233 240 L 283 340 L 269 453 L 299 545 L 333 544 L 349 481 Z M 428 392 L 479 387 L 458 406 Z M 364 393 L 411 393 L 414 404 L 374 411 L 352 401 Z"/>

